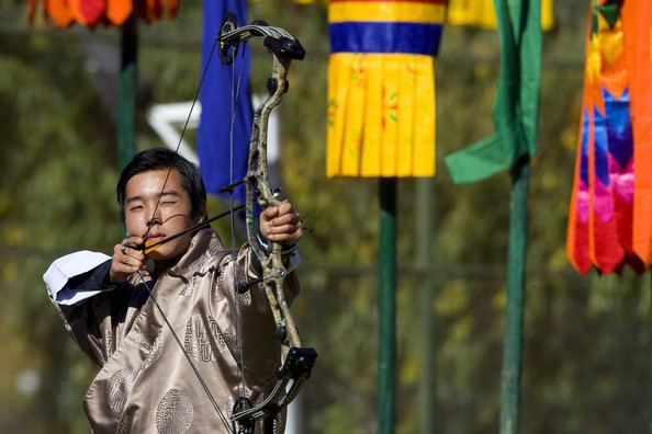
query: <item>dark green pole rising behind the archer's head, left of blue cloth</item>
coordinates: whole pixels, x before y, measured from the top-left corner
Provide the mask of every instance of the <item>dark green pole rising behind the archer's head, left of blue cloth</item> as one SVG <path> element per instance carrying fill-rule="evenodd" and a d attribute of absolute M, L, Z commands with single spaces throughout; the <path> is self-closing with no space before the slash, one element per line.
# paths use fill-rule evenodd
<path fill-rule="evenodd" d="M 136 152 L 136 100 L 138 89 L 138 31 L 136 15 L 122 26 L 122 59 L 117 94 L 117 170 Z"/>

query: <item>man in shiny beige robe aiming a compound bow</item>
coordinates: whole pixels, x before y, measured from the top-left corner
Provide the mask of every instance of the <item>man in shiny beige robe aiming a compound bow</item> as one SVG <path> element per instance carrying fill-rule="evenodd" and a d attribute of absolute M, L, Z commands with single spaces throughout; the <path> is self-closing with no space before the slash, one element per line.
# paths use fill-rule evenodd
<path fill-rule="evenodd" d="M 93 433 L 231 432 L 224 415 L 243 396 L 260 402 L 280 365 L 259 261 L 247 244 L 229 254 L 211 228 L 136 249 L 206 217 L 199 170 L 170 150 L 138 153 L 116 193 L 126 238 L 113 256 L 72 253 L 44 275 L 67 331 L 102 366 L 85 398 Z M 302 238 L 292 205 L 265 209 L 259 231 L 263 245 L 284 245 L 291 270 Z M 293 274 L 284 289 L 296 295 Z"/>

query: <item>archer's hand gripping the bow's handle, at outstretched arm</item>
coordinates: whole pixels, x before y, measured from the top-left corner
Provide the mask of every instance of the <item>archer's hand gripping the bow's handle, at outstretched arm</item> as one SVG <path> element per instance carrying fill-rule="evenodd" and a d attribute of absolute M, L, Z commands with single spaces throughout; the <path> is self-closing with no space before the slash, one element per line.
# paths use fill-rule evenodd
<path fill-rule="evenodd" d="M 260 235 L 269 241 L 293 245 L 303 237 L 301 217 L 290 202 L 268 207 L 260 213 Z"/>

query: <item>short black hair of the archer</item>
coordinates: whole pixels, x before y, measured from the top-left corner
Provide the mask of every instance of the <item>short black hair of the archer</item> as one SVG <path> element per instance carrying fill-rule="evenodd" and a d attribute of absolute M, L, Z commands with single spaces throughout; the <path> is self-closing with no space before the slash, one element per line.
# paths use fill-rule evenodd
<path fill-rule="evenodd" d="M 136 153 L 120 175 L 115 193 L 120 206 L 120 218 L 123 224 L 125 220 L 124 201 L 127 182 L 143 172 L 171 169 L 177 169 L 181 174 L 181 186 L 190 196 L 191 217 L 196 217 L 204 210 L 202 203 L 205 204 L 206 202 L 206 189 L 198 167 L 170 149 L 154 148 Z"/>

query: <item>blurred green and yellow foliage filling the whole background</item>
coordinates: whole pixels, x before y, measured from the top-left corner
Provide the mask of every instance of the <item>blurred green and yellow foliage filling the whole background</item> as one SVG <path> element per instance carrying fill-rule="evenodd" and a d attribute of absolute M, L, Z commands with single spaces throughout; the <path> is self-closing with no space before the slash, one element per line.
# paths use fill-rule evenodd
<path fill-rule="evenodd" d="M 95 370 L 66 336 L 41 274 L 79 249 L 110 251 L 121 227 L 114 201 L 114 114 L 98 92 L 80 41 L 117 45 L 114 28 L 25 27 L 21 2 L 2 1 L 0 23 L 0 431 L 83 433 L 83 390 Z M 5 8 L 4 8 L 5 7 Z M 539 152 L 532 161 L 525 359 L 524 433 L 641 432 L 647 425 L 649 283 L 581 278 L 565 260 L 565 224 L 582 90 L 584 8 L 557 2 L 546 35 Z M 378 181 L 325 178 L 328 39 L 323 5 L 251 2 L 250 16 L 289 28 L 307 52 L 294 62 L 282 106 L 286 194 L 305 225 L 301 333 L 319 352 L 302 395 L 304 433 L 373 433 L 375 426 Z M 139 73 L 146 92 L 138 146 L 158 146 L 146 104 L 188 101 L 200 77 L 201 8 L 144 25 Z M 255 48 L 254 88 L 269 57 Z M 498 65 L 493 32 L 447 27 L 437 60 L 438 157 L 493 132 Z M 423 197 L 404 180 L 398 193 L 398 432 L 423 432 L 418 390 L 435 372 L 432 409 L 441 433 L 494 433 L 505 309 L 509 175 L 456 186 L 443 164 L 431 264 L 419 264 L 416 209 Z M 214 201 L 211 208 L 223 209 Z M 418 216 L 417 216 L 418 217 Z M 222 235 L 228 239 L 226 227 Z M 436 361 L 423 366 L 420 293 L 435 282 Z M 36 374 L 34 377 L 33 374 Z M 32 377 L 31 377 L 32 375 Z M 40 385 L 30 388 L 30 381 Z M 26 385 L 26 386 L 25 386 Z M 33 382 L 32 382 L 33 385 Z"/>

